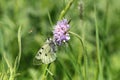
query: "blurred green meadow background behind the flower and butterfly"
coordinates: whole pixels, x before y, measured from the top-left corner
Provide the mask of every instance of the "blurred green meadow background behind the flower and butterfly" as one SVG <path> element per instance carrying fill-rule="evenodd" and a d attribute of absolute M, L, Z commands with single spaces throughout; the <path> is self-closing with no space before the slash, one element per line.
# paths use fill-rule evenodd
<path fill-rule="evenodd" d="M 0 51 L 0 77 L 10 76 L 3 54 L 13 65 L 19 52 L 17 32 L 21 26 L 22 55 L 16 80 L 41 80 L 45 65 L 33 65 L 33 58 L 47 37 L 52 36 L 58 16 L 68 2 L 69 0 L 0 0 L 0 48 L 5 52 Z M 103 78 L 119 80 L 120 0 L 83 0 L 83 19 L 80 19 L 79 2 L 80 0 L 73 2 L 65 18 L 71 19 L 70 31 L 84 38 L 88 54 L 88 80 L 96 80 L 98 73 L 94 3 Z M 49 14 L 53 25 L 50 24 Z M 56 80 L 83 80 L 84 77 L 82 45 L 76 37 L 70 36 L 68 44 L 59 47 L 57 60 L 50 65 L 50 71 Z M 81 62 L 80 70 L 78 60 Z M 47 80 L 53 78 L 48 75 Z"/>

